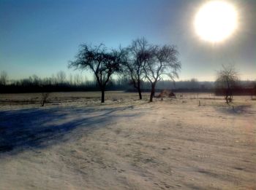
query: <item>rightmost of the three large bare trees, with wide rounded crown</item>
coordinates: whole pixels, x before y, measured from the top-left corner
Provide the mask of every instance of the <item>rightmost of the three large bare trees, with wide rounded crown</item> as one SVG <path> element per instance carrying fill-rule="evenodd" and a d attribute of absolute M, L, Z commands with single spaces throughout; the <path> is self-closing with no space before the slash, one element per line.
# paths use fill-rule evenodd
<path fill-rule="evenodd" d="M 178 61 L 178 50 L 175 46 L 151 47 L 147 61 L 143 66 L 146 79 L 151 84 L 149 102 L 153 101 L 156 84 L 163 79 L 162 76 L 167 75 L 174 81 L 175 78 L 178 78 L 180 68 L 181 63 Z"/>

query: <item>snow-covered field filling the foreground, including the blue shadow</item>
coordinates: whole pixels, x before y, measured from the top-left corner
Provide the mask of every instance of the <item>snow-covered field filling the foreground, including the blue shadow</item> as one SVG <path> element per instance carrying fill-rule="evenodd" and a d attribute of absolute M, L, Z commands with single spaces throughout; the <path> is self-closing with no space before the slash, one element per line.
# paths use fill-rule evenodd
<path fill-rule="evenodd" d="M 0 189 L 256 189 L 256 101 L 0 95 Z"/>

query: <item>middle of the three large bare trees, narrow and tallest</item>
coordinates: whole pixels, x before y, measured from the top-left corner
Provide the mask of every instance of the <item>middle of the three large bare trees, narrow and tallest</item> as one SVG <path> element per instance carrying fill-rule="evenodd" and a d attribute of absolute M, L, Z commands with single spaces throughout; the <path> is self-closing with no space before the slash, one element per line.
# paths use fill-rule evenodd
<path fill-rule="evenodd" d="M 143 82 L 143 66 L 148 58 L 149 44 L 145 38 L 132 41 L 132 45 L 127 48 L 127 61 L 124 63 L 124 74 L 129 76 L 133 87 L 138 90 L 139 98 L 142 99 L 141 85 Z"/>

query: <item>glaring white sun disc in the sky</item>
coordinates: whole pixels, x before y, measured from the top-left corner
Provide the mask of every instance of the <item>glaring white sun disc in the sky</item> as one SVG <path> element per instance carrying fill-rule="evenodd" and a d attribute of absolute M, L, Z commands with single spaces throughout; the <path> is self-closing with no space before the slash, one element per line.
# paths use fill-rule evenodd
<path fill-rule="evenodd" d="M 211 42 L 223 41 L 236 31 L 236 9 L 227 1 L 208 1 L 195 15 L 194 26 L 201 39 Z"/>

